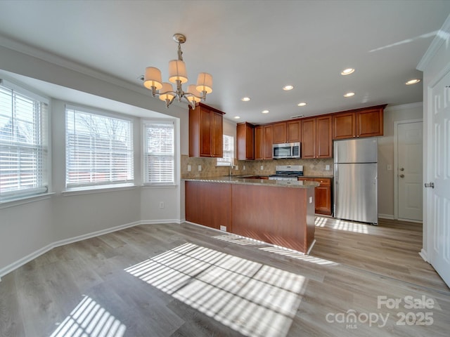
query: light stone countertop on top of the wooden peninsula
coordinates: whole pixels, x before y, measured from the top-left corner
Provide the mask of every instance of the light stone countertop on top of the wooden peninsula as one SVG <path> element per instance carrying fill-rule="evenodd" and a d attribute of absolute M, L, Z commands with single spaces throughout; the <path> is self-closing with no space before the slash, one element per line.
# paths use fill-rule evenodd
<path fill-rule="evenodd" d="M 298 180 L 269 180 L 269 179 L 253 179 L 245 178 L 249 176 L 219 176 L 205 178 L 186 178 L 185 181 L 200 181 L 205 183 L 229 183 L 241 185 L 261 185 L 272 187 L 300 187 L 309 188 L 317 187 L 320 184 L 315 181 L 298 181 Z"/>

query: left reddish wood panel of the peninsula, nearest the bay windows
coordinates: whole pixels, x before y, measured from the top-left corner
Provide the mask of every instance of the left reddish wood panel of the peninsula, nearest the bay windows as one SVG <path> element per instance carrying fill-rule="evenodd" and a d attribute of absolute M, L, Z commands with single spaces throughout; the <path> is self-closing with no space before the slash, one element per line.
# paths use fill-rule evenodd
<path fill-rule="evenodd" d="M 231 184 L 185 182 L 186 221 L 217 230 L 231 227 Z"/>

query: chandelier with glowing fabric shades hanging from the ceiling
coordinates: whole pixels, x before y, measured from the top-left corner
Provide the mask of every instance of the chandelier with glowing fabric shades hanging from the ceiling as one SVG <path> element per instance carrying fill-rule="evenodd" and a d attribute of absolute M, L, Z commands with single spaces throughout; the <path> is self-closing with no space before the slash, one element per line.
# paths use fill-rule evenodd
<path fill-rule="evenodd" d="M 186 100 L 186 103 L 194 109 L 195 103 L 200 102 L 200 100 L 206 100 L 206 94 L 212 93 L 212 76 L 207 72 L 200 72 L 197 78 L 197 85 L 190 84 L 188 91 L 183 91 L 181 84 L 188 81 L 188 74 L 186 72 L 186 64 L 183 61 L 181 44 L 186 42 L 186 37 L 184 34 L 174 34 L 173 39 L 178 43 L 178 60 L 169 61 L 169 81 L 176 84 L 176 90 L 174 90 L 171 83 L 162 81 L 161 71 L 155 67 L 146 67 L 143 85 L 152 91 L 153 97 L 159 96 L 160 100 L 164 100 L 166 107 L 169 107 L 174 99 L 177 98 L 179 102 L 182 99 Z"/>

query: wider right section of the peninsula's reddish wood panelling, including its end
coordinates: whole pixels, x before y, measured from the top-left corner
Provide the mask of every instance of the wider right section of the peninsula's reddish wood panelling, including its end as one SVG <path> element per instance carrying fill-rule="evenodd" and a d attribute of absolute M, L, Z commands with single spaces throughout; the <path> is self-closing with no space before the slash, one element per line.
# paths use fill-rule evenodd
<path fill-rule="evenodd" d="M 307 252 L 314 240 L 313 188 L 236 184 L 232 193 L 233 233 Z"/>

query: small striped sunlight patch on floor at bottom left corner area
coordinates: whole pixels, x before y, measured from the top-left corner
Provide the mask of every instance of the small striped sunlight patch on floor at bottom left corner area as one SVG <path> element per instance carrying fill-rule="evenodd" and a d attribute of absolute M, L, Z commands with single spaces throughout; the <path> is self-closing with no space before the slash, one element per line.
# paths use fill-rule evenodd
<path fill-rule="evenodd" d="M 89 296 L 84 296 L 50 337 L 122 337 L 127 329 Z"/>

